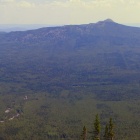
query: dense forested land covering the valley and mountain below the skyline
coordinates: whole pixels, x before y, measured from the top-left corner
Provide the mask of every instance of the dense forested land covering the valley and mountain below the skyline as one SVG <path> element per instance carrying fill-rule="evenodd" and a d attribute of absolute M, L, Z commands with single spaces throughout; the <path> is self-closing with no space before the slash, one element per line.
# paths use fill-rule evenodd
<path fill-rule="evenodd" d="M 0 139 L 110 140 L 112 118 L 139 140 L 139 60 L 140 29 L 108 20 L 1 33 Z"/>

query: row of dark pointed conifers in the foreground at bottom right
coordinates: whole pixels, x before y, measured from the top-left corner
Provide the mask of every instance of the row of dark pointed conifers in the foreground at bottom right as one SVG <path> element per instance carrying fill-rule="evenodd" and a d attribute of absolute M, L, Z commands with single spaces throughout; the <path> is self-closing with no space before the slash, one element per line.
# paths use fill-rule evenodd
<path fill-rule="evenodd" d="M 91 140 L 101 140 L 101 124 L 98 114 L 95 116 L 93 131 L 91 132 Z M 87 140 L 87 128 L 83 127 L 81 140 Z M 114 124 L 112 118 L 109 119 L 109 122 L 106 124 L 104 129 L 103 140 L 113 140 L 114 139 Z"/>

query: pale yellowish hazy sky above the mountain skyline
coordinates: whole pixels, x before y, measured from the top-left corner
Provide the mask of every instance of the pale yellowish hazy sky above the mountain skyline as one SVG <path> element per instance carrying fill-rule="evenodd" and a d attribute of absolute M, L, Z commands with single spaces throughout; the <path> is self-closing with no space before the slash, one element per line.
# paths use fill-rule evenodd
<path fill-rule="evenodd" d="M 0 0 L 0 24 L 140 23 L 140 0 Z"/>

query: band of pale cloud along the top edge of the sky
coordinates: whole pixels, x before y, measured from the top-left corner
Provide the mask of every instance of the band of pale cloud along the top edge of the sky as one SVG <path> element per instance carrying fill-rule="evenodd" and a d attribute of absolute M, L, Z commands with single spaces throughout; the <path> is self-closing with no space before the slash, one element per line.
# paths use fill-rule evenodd
<path fill-rule="evenodd" d="M 64 7 L 110 7 L 119 4 L 136 4 L 138 0 L 0 0 L 0 4 L 3 5 L 17 5 L 21 7 L 32 7 L 38 5 L 57 5 Z"/>

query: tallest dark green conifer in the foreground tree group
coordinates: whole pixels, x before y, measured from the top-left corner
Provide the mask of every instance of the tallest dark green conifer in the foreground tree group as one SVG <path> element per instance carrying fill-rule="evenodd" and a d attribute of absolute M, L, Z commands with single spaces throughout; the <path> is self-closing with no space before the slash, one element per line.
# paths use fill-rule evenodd
<path fill-rule="evenodd" d="M 100 120 L 98 114 L 96 115 L 95 121 L 94 121 L 94 132 L 93 132 L 93 140 L 100 140 Z"/>

